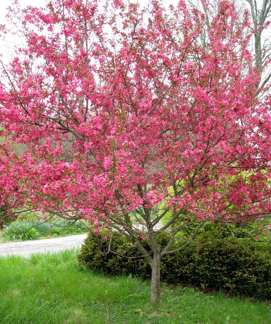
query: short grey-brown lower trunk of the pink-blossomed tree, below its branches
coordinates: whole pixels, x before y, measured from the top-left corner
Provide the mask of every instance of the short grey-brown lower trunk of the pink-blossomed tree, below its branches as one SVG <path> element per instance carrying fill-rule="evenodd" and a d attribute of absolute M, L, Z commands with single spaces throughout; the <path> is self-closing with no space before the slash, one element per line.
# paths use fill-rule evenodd
<path fill-rule="evenodd" d="M 160 297 L 160 247 L 156 244 L 153 249 L 153 262 L 151 267 L 151 302 L 158 305 Z"/>

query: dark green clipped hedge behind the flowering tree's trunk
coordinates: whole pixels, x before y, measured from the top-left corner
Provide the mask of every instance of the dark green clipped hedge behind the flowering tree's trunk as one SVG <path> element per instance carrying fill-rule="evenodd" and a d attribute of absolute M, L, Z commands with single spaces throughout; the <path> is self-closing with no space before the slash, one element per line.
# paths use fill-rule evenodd
<path fill-rule="evenodd" d="M 211 234 L 200 235 L 195 241 L 210 241 Z M 167 235 L 157 237 L 161 249 L 167 244 Z M 113 233 L 109 239 L 90 233 L 81 246 L 78 260 L 87 268 L 112 275 L 131 273 L 145 278 L 151 276 L 146 259 L 122 235 Z M 143 241 L 151 253 L 150 245 Z M 181 243 L 175 243 L 176 249 Z M 205 246 L 188 246 L 181 251 L 167 254 L 161 262 L 161 279 L 168 283 L 190 283 L 202 288 L 227 289 L 237 295 L 257 299 L 271 299 L 271 244 L 234 239 L 229 246 L 213 243 Z M 114 252 L 112 252 L 114 251 Z"/>

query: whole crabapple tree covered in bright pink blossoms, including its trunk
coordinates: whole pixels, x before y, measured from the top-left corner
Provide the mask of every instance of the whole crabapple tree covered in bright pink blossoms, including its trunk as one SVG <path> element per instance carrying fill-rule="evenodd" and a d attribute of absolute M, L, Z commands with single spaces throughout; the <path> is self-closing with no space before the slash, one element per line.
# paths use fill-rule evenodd
<path fill-rule="evenodd" d="M 255 95 L 248 11 L 236 23 L 221 1 L 205 44 L 204 14 L 183 1 L 55 0 L 13 14 L 27 46 L 2 63 L 3 202 L 119 231 L 150 264 L 156 304 L 163 256 L 208 222 L 269 215 L 271 101 L 267 88 Z"/>

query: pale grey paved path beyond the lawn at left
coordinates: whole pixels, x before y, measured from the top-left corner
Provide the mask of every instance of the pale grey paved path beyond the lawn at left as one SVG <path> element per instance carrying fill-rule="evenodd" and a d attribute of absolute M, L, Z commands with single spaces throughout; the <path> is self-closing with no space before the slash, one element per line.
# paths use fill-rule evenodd
<path fill-rule="evenodd" d="M 32 253 L 40 252 L 55 252 L 64 249 L 77 248 L 81 246 L 84 239 L 87 237 L 87 233 L 46 238 L 33 241 L 23 242 L 8 242 L 0 244 L 0 255 L 5 256 L 8 254 L 18 254 L 22 256 L 29 256 Z"/>

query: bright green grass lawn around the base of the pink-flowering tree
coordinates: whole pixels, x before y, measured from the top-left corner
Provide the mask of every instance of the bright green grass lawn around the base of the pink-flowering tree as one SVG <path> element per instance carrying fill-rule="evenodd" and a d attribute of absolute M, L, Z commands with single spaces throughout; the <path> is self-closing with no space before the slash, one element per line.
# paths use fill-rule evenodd
<path fill-rule="evenodd" d="M 163 285 L 153 307 L 150 284 L 84 270 L 78 250 L 0 258 L 0 323 L 271 323 L 265 302 Z"/>

